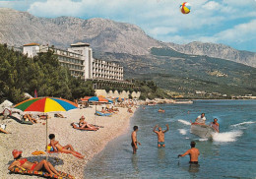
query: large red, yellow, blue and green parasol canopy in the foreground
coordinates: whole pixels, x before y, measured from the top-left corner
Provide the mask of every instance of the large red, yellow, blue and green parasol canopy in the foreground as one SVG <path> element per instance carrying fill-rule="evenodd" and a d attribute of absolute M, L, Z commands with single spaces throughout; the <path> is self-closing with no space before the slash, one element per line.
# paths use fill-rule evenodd
<path fill-rule="evenodd" d="M 15 108 L 22 111 L 36 112 L 53 112 L 53 111 L 68 111 L 77 108 L 78 105 L 74 102 L 63 98 L 56 97 L 37 97 L 25 100 L 15 105 Z"/>

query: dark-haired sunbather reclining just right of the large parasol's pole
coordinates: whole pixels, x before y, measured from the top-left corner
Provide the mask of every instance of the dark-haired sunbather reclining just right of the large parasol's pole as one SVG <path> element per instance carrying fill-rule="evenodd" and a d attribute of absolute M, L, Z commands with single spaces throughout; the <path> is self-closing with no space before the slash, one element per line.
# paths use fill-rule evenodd
<path fill-rule="evenodd" d="M 71 145 L 67 145 L 65 147 L 62 147 L 59 144 L 58 141 L 55 141 L 55 135 L 54 134 L 50 134 L 49 139 L 50 139 L 50 146 L 53 149 L 53 151 L 61 151 L 61 152 L 65 152 L 65 153 L 71 153 L 74 156 L 77 156 L 79 158 L 84 158 L 85 157 L 81 153 L 75 151 L 75 149 Z"/>

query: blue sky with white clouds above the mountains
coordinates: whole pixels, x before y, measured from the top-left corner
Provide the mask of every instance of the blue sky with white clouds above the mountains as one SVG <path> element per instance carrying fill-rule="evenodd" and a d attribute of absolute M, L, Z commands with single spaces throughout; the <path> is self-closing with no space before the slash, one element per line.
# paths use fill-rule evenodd
<path fill-rule="evenodd" d="M 179 9 L 183 2 L 191 5 L 187 15 Z M 256 0 L 0 0 L 0 7 L 44 18 L 109 19 L 164 42 L 214 42 L 256 52 Z"/>

